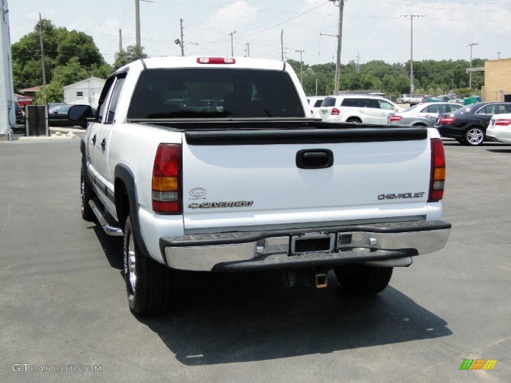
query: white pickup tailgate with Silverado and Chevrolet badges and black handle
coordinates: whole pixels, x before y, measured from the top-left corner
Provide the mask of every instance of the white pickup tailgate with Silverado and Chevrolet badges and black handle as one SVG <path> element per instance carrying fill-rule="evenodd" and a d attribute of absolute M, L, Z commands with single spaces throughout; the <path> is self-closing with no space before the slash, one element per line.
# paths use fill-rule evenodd
<path fill-rule="evenodd" d="M 424 128 L 188 131 L 188 233 L 424 218 Z"/>

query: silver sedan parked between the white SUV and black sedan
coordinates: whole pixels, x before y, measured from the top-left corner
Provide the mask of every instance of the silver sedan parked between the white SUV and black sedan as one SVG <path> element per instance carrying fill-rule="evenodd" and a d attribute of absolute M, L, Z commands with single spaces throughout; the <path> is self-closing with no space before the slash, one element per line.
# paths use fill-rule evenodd
<path fill-rule="evenodd" d="M 402 112 L 389 115 L 387 125 L 432 127 L 436 123 L 438 114 L 451 113 L 462 107 L 461 104 L 445 102 L 417 104 Z"/>

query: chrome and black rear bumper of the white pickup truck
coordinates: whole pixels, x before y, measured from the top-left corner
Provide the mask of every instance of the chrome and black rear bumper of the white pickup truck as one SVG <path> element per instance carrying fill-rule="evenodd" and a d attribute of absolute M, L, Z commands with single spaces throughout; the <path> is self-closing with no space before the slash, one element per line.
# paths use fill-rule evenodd
<path fill-rule="evenodd" d="M 442 249 L 451 224 L 392 222 L 299 230 L 160 238 L 173 269 L 242 271 L 345 265 L 407 258 Z"/>

